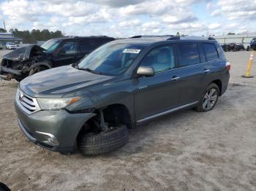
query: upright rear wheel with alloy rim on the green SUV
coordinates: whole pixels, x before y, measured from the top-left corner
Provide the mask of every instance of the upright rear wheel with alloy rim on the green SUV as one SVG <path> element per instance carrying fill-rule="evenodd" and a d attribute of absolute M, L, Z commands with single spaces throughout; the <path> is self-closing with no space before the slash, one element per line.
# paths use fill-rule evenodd
<path fill-rule="evenodd" d="M 199 105 L 195 108 L 197 112 L 208 112 L 214 109 L 219 98 L 219 86 L 211 83 L 200 98 Z"/>

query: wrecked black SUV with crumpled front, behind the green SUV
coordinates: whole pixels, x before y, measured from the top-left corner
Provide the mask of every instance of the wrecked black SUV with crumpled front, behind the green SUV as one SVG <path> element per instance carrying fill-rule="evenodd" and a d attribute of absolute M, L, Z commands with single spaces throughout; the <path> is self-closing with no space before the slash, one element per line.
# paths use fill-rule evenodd
<path fill-rule="evenodd" d="M 0 77 L 18 82 L 39 71 L 76 63 L 102 44 L 115 39 L 108 36 L 66 36 L 50 39 L 41 46 L 30 45 L 4 55 Z"/>

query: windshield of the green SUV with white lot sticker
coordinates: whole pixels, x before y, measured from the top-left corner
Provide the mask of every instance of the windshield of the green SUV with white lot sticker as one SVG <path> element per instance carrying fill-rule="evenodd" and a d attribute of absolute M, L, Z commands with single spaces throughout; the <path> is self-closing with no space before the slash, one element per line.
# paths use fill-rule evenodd
<path fill-rule="evenodd" d="M 144 47 L 138 44 L 105 44 L 83 58 L 78 64 L 78 69 L 117 76 L 126 71 L 143 49 Z"/>

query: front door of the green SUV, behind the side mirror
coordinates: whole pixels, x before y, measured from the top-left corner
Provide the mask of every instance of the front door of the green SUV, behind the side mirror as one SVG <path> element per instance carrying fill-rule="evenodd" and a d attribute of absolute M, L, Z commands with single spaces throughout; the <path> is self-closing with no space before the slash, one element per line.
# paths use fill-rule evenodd
<path fill-rule="evenodd" d="M 140 66 L 152 67 L 154 77 L 138 77 L 135 84 L 135 117 L 143 122 L 178 106 L 176 56 L 172 45 L 155 47 L 143 58 Z"/>

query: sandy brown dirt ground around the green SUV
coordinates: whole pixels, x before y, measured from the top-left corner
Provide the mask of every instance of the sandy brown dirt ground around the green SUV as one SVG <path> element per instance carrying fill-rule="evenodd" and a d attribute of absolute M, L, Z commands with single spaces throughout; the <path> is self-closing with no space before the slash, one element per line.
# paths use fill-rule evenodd
<path fill-rule="evenodd" d="M 20 191 L 255 191 L 256 77 L 241 78 L 249 52 L 226 55 L 230 85 L 214 110 L 158 118 L 130 130 L 125 147 L 96 157 L 60 155 L 27 141 L 13 106 L 18 83 L 0 82 L 0 182 Z"/>

